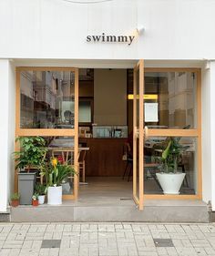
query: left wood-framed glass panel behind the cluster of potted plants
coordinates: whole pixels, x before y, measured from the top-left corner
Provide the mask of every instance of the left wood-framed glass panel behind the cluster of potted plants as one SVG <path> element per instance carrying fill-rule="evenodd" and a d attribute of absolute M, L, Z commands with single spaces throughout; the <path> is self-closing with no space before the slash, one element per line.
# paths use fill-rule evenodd
<path fill-rule="evenodd" d="M 78 173 L 78 69 L 17 67 L 16 72 L 15 137 L 45 138 L 47 160 L 67 156 Z M 63 185 L 63 198 L 76 199 L 78 175 L 70 175 Z"/>

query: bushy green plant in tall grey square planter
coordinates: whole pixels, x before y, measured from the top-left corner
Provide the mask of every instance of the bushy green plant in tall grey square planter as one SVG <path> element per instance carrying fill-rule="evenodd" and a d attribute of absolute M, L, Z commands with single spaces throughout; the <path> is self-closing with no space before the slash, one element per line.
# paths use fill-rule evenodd
<path fill-rule="evenodd" d="M 36 171 L 40 171 L 46 156 L 46 140 L 42 137 L 18 137 L 20 150 L 15 151 L 15 169 L 18 169 L 20 204 L 31 204 L 35 190 Z M 33 171 L 31 171 L 33 170 Z"/>

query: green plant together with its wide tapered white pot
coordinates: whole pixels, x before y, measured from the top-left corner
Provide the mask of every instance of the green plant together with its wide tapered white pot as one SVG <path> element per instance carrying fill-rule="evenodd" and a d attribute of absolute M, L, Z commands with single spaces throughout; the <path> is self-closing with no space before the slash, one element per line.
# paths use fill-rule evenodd
<path fill-rule="evenodd" d="M 179 143 L 180 138 L 170 137 L 166 140 L 167 147 L 161 156 L 162 172 L 156 173 L 159 184 L 164 194 L 179 194 L 179 189 L 185 177 L 185 173 L 179 172 L 178 164 L 181 154 L 189 146 Z"/>

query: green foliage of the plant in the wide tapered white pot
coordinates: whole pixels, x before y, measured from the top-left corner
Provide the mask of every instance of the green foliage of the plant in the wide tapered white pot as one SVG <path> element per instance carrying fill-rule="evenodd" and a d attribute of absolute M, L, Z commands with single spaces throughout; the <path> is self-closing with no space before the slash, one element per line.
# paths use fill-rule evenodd
<path fill-rule="evenodd" d="M 159 158 L 163 164 L 164 172 L 176 173 L 182 153 L 189 148 L 189 146 L 181 145 L 179 140 L 179 137 L 169 137 L 166 140 L 166 148 L 164 148 L 162 156 Z"/>

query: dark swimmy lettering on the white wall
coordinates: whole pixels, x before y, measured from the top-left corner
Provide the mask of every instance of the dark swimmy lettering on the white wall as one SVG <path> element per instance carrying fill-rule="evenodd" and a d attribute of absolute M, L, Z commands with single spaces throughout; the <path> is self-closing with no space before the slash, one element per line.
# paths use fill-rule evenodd
<path fill-rule="evenodd" d="M 86 41 L 92 43 L 124 43 L 130 46 L 135 36 L 110 36 L 102 33 L 100 36 L 87 36 Z"/>

